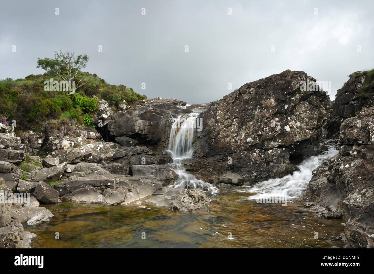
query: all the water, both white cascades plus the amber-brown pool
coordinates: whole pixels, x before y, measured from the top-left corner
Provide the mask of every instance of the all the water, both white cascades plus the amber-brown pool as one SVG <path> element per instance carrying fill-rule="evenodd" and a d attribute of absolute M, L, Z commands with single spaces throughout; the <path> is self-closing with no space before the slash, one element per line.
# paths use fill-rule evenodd
<path fill-rule="evenodd" d="M 283 178 L 259 182 L 251 187 L 222 185 L 220 190 L 187 173 L 181 161 L 193 155 L 193 134 L 198 113 L 184 116 L 172 128 L 169 152 L 171 168 L 178 180 L 171 187 L 202 188 L 211 199 L 208 207 L 179 212 L 146 204 L 110 206 L 90 203 L 46 205 L 55 216 L 37 226 L 25 225 L 38 235 L 33 248 L 141 248 L 141 247 L 223 247 L 223 248 L 340 248 L 342 220 L 319 219 L 299 212 L 301 197 L 312 171 L 337 151 L 303 161 L 300 171 Z M 175 123 L 181 121 L 178 117 Z M 288 203 L 269 203 L 282 196 Z M 258 202 L 264 201 L 265 202 Z M 315 233 L 318 232 L 318 239 Z M 58 233 L 58 234 L 57 234 Z M 57 235 L 59 238 L 57 238 Z"/>

